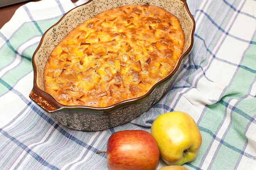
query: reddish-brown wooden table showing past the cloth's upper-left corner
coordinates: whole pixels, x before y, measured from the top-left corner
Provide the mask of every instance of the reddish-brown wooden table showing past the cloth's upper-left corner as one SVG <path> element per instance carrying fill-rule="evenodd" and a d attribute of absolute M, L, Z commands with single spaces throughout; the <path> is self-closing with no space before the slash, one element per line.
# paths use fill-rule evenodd
<path fill-rule="evenodd" d="M 35 2 L 39 0 L 28 0 L 27 2 L 32 2 L 32 1 Z M 77 0 L 71 0 L 71 1 L 76 2 Z M 2 26 L 11 19 L 11 17 L 13 16 L 16 9 L 18 9 L 18 7 L 26 4 L 27 2 L 22 2 L 22 3 L 0 8 L 0 28 L 2 28 Z"/>

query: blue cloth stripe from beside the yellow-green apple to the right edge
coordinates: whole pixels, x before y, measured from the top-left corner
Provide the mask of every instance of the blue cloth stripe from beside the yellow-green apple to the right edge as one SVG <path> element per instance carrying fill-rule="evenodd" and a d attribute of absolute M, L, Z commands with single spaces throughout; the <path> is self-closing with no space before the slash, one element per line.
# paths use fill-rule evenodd
<path fill-rule="evenodd" d="M 209 135 L 211 135 L 211 137 L 213 137 L 213 139 L 215 139 L 216 141 L 219 141 L 222 145 L 226 146 L 227 148 L 234 150 L 235 152 L 238 152 L 239 154 L 242 154 L 243 156 L 250 158 L 250 159 L 256 159 L 256 156 L 251 155 L 249 153 L 246 153 L 243 150 L 240 150 L 239 148 L 236 148 L 235 146 L 228 144 L 227 142 L 223 141 L 222 139 L 218 138 L 211 130 L 204 128 L 202 126 L 198 126 L 199 130 L 202 132 L 206 132 Z"/>

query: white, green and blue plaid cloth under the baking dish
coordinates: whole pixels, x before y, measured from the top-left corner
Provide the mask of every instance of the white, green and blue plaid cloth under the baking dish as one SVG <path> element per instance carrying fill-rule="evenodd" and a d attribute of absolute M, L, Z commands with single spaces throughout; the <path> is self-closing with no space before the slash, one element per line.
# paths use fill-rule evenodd
<path fill-rule="evenodd" d="M 59 124 L 30 98 L 31 57 L 43 33 L 85 0 L 41 0 L 20 7 L 0 29 L 0 169 L 107 170 L 108 138 L 150 132 L 166 112 L 189 113 L 202 146 L 189 170 L 256 170 L 256 0 L 187 0 L 193 49 L 169 91 L 127 124 L 98 132 Z M 166 166 L 160 161 L 159 168 Z"/>

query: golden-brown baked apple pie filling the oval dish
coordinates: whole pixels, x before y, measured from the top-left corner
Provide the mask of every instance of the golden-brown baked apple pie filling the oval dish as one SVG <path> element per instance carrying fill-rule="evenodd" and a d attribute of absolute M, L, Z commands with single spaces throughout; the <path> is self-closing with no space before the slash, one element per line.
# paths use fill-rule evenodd
<path fill-rule="evenodd" d="M 182 55 L 177 18 L 150 5 L 127 5 L 85 21 L 52 51 L 45 91 L 69 106 L 107 107 L 144 95 Z"/>

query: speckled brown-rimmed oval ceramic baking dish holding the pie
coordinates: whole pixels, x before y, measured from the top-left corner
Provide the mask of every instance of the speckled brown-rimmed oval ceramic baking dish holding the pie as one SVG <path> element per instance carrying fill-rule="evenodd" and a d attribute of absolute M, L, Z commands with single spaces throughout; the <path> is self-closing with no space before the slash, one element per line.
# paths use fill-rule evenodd
<path fill-rule="evenodd" d="M 44 91 L 43 71 L 54 47 L 76 26 L 110 8 L 127 4 L 150 4 L 174 14 L 181 22 L 185 34 L 184 53 L 173 72 L 153 86 L 145 95 L 120 102 L 106 108 L 64 106 Z M 135 119 L 151 108 L 168 91 L 182 69 L 185 58 L 193 46 L 195 21 L 185 0 L 90 0 L 66 13 L 48 29 L 36 49 L 32 64 L 34 87 L 29 97 L 64 126 L 83 131 L 97 131 L 116 127 Z"/>

